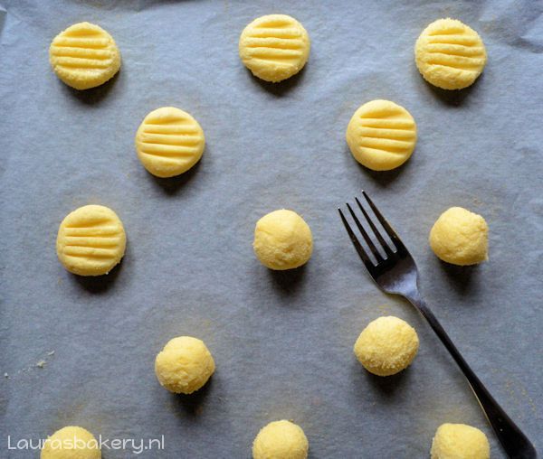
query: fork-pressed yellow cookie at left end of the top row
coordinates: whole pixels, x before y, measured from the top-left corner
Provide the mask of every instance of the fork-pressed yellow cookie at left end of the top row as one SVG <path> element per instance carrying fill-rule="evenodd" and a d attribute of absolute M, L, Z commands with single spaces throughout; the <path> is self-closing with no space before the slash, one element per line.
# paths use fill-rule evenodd
<path fill-rule="evenodd" d="M 68 86 L 90 89 L 119 71 L 120 52 L 110 33 L 100 26 L 76 23 L 54 37 L 49 61 L 52 70 Z"/>

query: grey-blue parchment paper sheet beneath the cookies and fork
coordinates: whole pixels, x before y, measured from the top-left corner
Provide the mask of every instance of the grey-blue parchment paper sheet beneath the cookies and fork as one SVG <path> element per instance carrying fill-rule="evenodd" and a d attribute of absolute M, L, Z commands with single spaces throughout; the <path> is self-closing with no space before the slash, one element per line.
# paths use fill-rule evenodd
<path fill-rule="evenodd" d="M 7 450 L 7 436 L 13 445 L 78 425 L 107 438 L 165 436 L 165 450 L 142 457 L 248 458 L 258 430 L 288 418 L 313 459 L 428 457 L 443 422 L 481 428 L 492 457 L 504 457 L 424 319 L 382 294 L 351 247 L 337 207 L 361 188 L 414 254 L 453 341 L 543 448 L 540 2 L 0 3 L 0 456 L 39 455 Z M 271 13 L 299 19 L 312 42 L 305 70 L 277 85 L 253 78 L 237 54 L 243 27 Z M 433 89 L 414 66 L 417 36 L 447 16 L 481 33 L 489 54 L 461 92 Z M 111 33 L 122 68 L 78 92 L 52 73 L 48 48 L 81 21 Z M 374 98 L 418 125 L 414 155 L 390 173 L 359 166 L 344 138 Z M 142 118 L 167 105 L 190 112 L 207 145 L 194 170 L 159 180 L 133 142 Z M 55 254 L 61 220 L 89 203 L 116 211 L 129 240 L 120 267 L 99 279 L 72 276 Z M 480 267 L 447 266 L 427 244 L 455 205 L 490 225 Z M 283 207 L 308 221 L 315 251 L 306 267 L 273 273 L 253 256 L 252 232 Z M 421 341 L 413 366 L 386 379 L 352 352 L 383 314 L 413 324 Z M 192 397 L 160 388 L 153 370 L 181 334 L 202 338 L 217 365 Z"/>

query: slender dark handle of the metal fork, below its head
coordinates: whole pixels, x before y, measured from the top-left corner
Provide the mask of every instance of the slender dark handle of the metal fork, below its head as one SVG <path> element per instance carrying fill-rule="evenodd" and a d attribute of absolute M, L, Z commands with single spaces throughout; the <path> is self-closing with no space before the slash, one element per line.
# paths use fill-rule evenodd
<path fill-rule="evenodd" d="M 428 309 L 418 291 L 414 292 L 413 295 L 406 296 L 406 298 L 424 315 L 424 318 L 430 323 L 435 334 L 437 334 L 445 348 L 447 348 L 447 351 L 452 355 L 452 359 L 456 361 L 460 370 L 462 370 L 464 376 L 468 379 L 475 397 L 478 399 L 484 414 L 491 423 L 496 436 L 498 436 L 498 440 L 500 440 L 501 446 L 510 459 L 536 459 L 538 453 L 528 437 L 521 432 L 519 427 L 491 396 L 491 393 L 482 384 L 481 379 L 477 377 L 462 357 L 460 351 L 456 349 L 449 335 L 445 333 L 441 323 L 438 322 L 432 311 Z"/>

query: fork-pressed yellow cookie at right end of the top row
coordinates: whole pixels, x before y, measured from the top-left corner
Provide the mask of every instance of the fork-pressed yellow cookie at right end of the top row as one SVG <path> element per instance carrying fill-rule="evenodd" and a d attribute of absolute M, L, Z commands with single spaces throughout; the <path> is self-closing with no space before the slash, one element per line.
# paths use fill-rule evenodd
<path fill-rule="evenodd" d="M 487 61 L 484 43 L 457 19 L 438 19 L 414 45 L 414 61 L 424 80 L 442 89 L 462 89 L 481 75 Z"/>

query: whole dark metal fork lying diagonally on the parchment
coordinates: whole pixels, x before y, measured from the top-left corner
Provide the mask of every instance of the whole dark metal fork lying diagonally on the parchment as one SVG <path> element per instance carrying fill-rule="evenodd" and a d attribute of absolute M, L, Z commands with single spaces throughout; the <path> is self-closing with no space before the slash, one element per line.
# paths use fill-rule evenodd
<path fill-rule="evenodd" d="M 452 343 L 451 339 L 443 330 L 441 324 L 437 321 L 432 311 L 424 303 L 418 288 L 418 270 L 414 263 L 414 259 L 405 248 L 404 243 L 395 233 L 395 230 L 388 224 L 385 217 L 377 210 L 376 205 L 369 199 L 367 193 L 362 191 L 364 198 L 366 198 L 367 204 L 373 211 L 376 219 L 381 224 L 381 227 L 385 230 L 386 235 L 392 241 L 392 244 L 386 242 L 385 238 L 381 234 L 381 231 L 377 230 L 374 220 L 370 218 L 367 211 L 362 206 L 358 198 L 357 207 L 362 212 L 364 220 L 367 222 L 367 226 L 372 230 L 376 237 L 378 246 L 385 253 L 385 256 L 376 248 L 376 243 L 369 237 L 367 230 L 357 217 L 357 213 L 353 211 L 350 204 L 347 204 L 348 211 L 355 221 L 358 231 L 364 238 L 369 248 L 369 252 L 363 248 L 360 241 L 357 239 L 355 231 L 351 229 L 348 224 L 348 220 L 345 218 L 341 209 L 338 209 L 339 216 L 345 225 L 345 229 L 348 232 L 348 237 L 351 239 L 353 245 L 357 249 L 358 256 L 362 258 L 364 265 L 369 271 L 369 275 L 387 294 L 395 294 L 404 296 L 416 309 L 423 314 L 426 321 L 430 324 L 435 334 L 443 342 L 443 345 L 452 355 L 452 359 L 456 361 L 460 370 L 462 370 L 466 379 L 472 387 L 475 397 L 479 401 L 485 416 L 489 420 L 500 444 L 505 450 L 506 454 L 511 459 L 535 459 L 538 454 L 534 446 L 530 443 L 527 436 L 525 436 L 519 429 L 519 427 L 511 420 L 507 413 L 503 410 L 498 402 L 491 396 L 491 393 L 484 387 L 481 379 L 473 372 L 467 362 L 463 359 L 462 354 L 456 346 Z M 375 259 L 370 258 L 370 253 Z"/>

